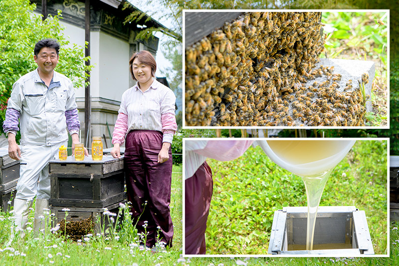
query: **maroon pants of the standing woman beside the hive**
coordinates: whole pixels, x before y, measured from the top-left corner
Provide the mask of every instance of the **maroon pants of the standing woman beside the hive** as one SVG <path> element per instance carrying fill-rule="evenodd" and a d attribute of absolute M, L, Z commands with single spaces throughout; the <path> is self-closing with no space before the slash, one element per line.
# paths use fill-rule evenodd
<path fill-rule="evenodd" d="M 157 163 L 163 135 L 154 130 L 132 130 L 126 136 L 125 173 L 128 201 L 138 233 L 147 234 L 146 246 L 157 240 L 172 247 L 172 151 L 169 160 Z M 144 243 L 144 239 L 142 241 Z"/>

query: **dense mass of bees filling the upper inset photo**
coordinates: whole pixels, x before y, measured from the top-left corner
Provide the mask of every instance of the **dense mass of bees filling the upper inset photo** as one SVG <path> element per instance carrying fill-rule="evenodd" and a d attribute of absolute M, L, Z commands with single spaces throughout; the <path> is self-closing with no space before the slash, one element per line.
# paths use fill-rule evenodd
<path fill-rule="evenodd" d="M 342 88 L 334 67 L 315 67 L 324 38 L 320 12 L 245 12 L 225 22 L 186 48 L 186 125 L 364 125 L 357 82 Z"/>

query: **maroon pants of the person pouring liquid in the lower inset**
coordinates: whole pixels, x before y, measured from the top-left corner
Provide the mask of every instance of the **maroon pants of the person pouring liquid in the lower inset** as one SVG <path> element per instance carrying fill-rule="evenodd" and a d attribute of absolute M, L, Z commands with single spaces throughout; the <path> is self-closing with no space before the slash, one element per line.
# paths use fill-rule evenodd
<path fill-rule="evenodd" d="M 204 162 L 193 177 L 185 181 L 185 254 L 205 254 L 206 220 L 212 199 L 212 171 Z"/>

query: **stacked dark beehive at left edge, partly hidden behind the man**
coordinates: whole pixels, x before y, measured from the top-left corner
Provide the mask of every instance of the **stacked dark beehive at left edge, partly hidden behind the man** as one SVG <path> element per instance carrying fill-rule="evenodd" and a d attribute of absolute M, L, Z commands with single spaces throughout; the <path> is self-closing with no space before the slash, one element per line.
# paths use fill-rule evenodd
<path fill-rule="evenodd" d="M 18 179 L 19 161 L 9 158 L 8 146 L 0 148 L 0 208 L 3 212 L 13 206 Z"/>

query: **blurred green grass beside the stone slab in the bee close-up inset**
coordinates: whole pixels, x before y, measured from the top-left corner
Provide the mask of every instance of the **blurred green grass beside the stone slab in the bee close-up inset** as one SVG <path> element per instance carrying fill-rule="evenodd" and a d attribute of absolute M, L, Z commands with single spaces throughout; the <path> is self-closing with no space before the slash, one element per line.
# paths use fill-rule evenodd
<path fill-rule="evenodd" d="M 379 25 L 378 20 L 384 25 Z M 388 56 L 386 12 L 323 12 L 327 34 L 325 53 L 321 57 L 371 60 L 376 71 L 370 95 L 373 110 L 366 113 L 367 126 L 387 125 Z M 372 82 L 372 80 L 370 80 Z"/>

